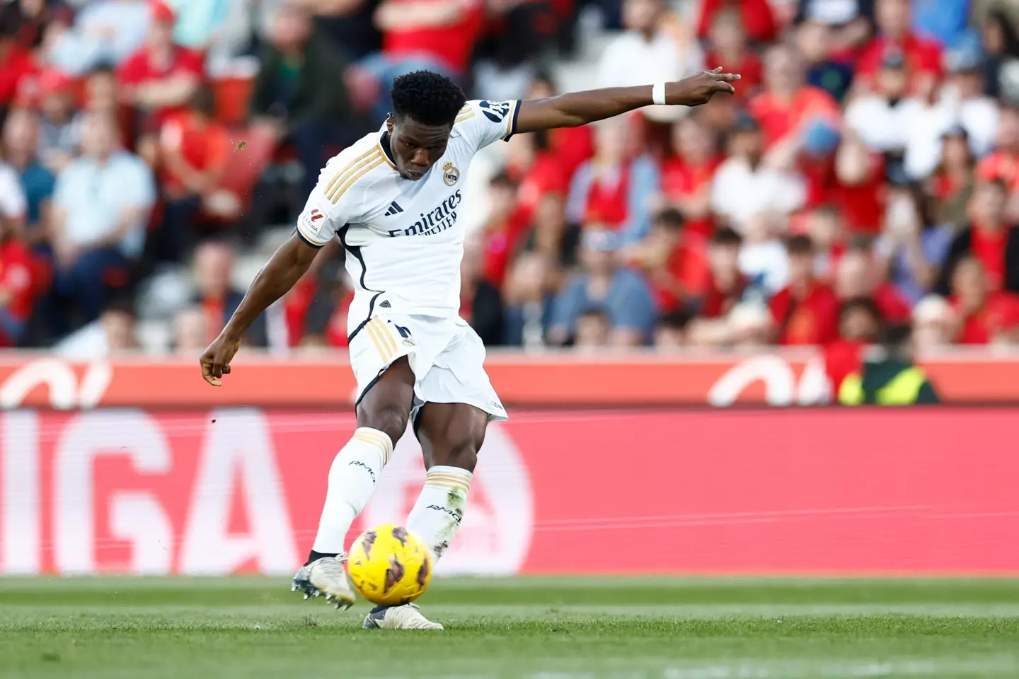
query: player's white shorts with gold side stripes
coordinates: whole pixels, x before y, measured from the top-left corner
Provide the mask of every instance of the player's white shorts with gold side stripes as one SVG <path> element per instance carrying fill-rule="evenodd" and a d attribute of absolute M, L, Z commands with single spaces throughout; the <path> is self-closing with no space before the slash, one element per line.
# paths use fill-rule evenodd
<path fill-rule="evenodd" d="M 351 366 L 358 381 L 357 402 L 400 356 L 414 372 L 412 421 L 425 403 L 467 403 L 507 419 L 485 373 L 485 345 L 459 317 L 406 314 L 373 317 L 351 340 Z"/>

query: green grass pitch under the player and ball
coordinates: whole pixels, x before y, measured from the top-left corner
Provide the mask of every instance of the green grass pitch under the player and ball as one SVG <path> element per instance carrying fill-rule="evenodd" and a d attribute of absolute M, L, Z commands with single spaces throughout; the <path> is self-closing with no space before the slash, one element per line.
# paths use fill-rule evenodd
<path fill-rule="evenodd" d="M 0 578 L 0 677 L 1019 677 L 1019 580 L 438 579 L 445 632 L 286 578 Z"/>

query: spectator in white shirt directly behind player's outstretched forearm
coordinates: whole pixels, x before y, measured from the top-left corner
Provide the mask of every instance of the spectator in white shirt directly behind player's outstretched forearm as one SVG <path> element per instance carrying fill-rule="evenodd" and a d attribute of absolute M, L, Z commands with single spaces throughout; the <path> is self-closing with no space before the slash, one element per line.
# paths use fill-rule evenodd
<path fill-rule="evenodd" d="M 598 81 L 603 88 L 679 80 L 704 68 L 704 54 L 693 32 L 668 11 L 663 0 L 625 0 L 623 25 L 601 56 Z M 675 120 L 682 106 L 652 106 L 652 120 Z"/>

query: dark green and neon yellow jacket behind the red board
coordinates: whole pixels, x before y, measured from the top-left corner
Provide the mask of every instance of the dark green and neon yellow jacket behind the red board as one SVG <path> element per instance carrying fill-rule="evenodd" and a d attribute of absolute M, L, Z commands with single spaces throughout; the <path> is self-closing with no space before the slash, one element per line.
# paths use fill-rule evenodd
<path fill-rule="evenodd" d="M 898 358 L 864 361 L 839 386 L 843 405 L 914 405 L 940 403 L 926 374 Z"/>

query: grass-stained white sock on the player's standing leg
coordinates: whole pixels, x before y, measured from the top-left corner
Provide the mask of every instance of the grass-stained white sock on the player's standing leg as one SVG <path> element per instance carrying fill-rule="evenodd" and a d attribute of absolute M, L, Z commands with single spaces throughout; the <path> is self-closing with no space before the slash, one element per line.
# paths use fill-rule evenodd
<path fill-rule="evenodd" d="M 473 476 L 460 467 L 432 467 L 411 515 L 407 517 L 408 529 L 432 548 L 436 559 L 449 547 L 464 518 L 467 491 L 471 488 Z"/>

